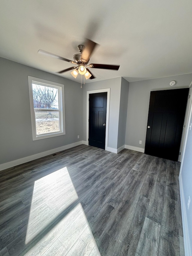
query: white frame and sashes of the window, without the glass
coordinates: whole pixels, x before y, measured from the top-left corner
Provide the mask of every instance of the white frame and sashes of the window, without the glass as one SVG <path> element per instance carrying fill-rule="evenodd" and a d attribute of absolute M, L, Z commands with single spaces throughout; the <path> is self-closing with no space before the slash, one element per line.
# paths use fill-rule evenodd
<path fill-rule="evenodd" d="M 28 82 L 29 82 L 29 100 L 30 100 L 30 109 L 31 109 L 31 123 L 32 123 L 33 140 L 41 140 L 41 139 L 45 139 L 45 138 L 64 135 L 65 134 L 64 84 L 55 83 L 55 82 L 47 81 L 47 80 L 40 79 L 37 77 L 30 77 L 30 76 L 28 76 Z M 49 109 L 34 109 L 33 86 L 32 86 L 33 83 L 58 89 L 59 110 L 53 110 L 53 111 L 59 111 L 60 131 L 44 133 L 44 134 L 36 134 L 35 111 L 47 111 Z"/>

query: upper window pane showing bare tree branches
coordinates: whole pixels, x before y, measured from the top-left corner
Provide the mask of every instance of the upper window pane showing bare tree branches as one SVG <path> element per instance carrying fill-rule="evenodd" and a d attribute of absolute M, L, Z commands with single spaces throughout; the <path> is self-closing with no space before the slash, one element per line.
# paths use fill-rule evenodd
<path fill-rule="evenodd" d="M 58 89 L 33 83 L 34 108 L 59 109 Z"/>

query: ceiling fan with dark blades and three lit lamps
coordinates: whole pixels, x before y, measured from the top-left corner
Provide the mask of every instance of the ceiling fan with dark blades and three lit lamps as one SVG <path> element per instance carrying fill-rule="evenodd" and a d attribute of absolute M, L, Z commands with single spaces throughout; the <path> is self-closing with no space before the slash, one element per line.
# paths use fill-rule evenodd
<path fill-rule="evenodd" d="M 118 70 L 120 67 L 119 65 L 93 64 L 93 63 L 88 65 L 89 58 L 90 58 L 91 54 L 93 53 L 93 50 L 95 49 L 96 46 L 97 46 L 97 43 L 95 43 L 89 39 L 86 40 L 85 45 L 79 44 L 78 49 L 79 49 L 80 53 L 76 53 L 73 55 L 74 61 L 65 59 L 61 56 L 46 52 L 44 50 L 38 50 L 38 53 L 46 54 L 46 55 L 52 56 L 54 58 L 61 59 L 61 60 L 64 60 L 64 61 L 67 61 L 67 62 L 77 65 L 75 67 L 70 67 L 70 68 L 67 68 L 67 69 L 57 72 L 58 74 L 61 74 L 66 71 L 73 70 L 72 72 L 70 72 L 70 74 L 75 78 L 77 77 L 78 74 L 80 74 L 80 75 L 84 75 L 86 79 L 88 79 L 88 78 L 94 79 L 95 78 L 94 75 L 91 73 L 91 71 L 87 67 Z"/>

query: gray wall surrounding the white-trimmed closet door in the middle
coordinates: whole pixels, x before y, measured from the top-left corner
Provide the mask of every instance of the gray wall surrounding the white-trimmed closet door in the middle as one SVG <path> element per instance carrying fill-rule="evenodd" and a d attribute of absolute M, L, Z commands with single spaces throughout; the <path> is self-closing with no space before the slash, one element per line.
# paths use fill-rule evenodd
<path fill-rule="evenodd" d="M 86 141 L 87 91 L 110 88 L 108 147 L 117 149 L 121 77 L 83 85 L 83 140 Z"/>

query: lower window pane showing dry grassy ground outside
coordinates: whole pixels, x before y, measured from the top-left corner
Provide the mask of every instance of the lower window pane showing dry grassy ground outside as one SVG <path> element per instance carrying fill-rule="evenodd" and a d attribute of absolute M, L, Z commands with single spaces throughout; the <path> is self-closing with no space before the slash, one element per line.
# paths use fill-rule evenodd
<path fill-rule="evenodd" d="M 37 134 L 59 131 L 59 111 L 35 111 L 35 122 Z"/>

